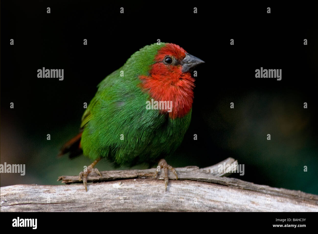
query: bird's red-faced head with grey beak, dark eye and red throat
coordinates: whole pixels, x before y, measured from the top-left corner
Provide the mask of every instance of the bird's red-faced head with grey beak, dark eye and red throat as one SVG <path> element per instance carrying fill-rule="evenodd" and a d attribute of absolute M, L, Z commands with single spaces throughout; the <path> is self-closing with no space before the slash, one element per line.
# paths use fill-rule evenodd
<path fill-rule="evenodd" d="M 188 114 L 195 87 L 191 71 L 203 61 L 172 43 L 153 44 L 140 52 L 143 52 L 143 58 L 154 53 L 147 75 L 139 75 L 142 90 L 154 101 L 172 101 L 171 110 L 163 109 L 160 113 L 169 114 L 172 119 Z"/>

